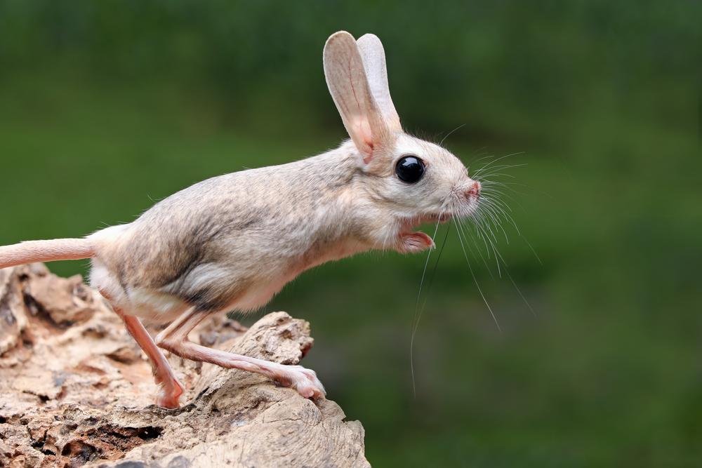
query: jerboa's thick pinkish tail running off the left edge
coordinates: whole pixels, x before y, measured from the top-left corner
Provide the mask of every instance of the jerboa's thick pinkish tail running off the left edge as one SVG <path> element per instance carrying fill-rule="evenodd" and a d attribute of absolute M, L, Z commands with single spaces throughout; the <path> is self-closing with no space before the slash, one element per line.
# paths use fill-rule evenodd
<path fill-rule="evenodd" d="M 25 241 L 15 243 L 13 246 L 0 247 L 0 268 L 32 262 L 80 260 L 81 258 L 91 258 L 94 255 L 95 248 L 88 239 Z"/>

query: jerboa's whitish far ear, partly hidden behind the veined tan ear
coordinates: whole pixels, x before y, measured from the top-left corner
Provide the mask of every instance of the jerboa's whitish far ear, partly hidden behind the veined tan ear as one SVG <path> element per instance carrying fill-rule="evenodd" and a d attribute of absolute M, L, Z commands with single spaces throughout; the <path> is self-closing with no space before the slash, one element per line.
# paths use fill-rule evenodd
<path fill-rule="evenodd" d="M 402 131 L 399 116 L 390 98 L 388 88 L 388 69 L 385 67 L 385 51 L 383 44 L 375 34 L 364 34 L 356 41 L 361 51 L 361 58 L 366 69 L 366 77 L 371 88 L 373 99 L 383 114 L 385 125 L 390 131 Z"/>

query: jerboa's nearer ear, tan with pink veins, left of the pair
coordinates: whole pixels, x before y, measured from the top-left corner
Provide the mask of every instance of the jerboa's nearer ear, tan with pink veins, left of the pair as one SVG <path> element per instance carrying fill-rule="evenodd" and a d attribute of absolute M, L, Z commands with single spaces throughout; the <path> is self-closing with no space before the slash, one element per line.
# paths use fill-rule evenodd
<path fill-rule="evenodd" d="M 389 138 L 390 131 L 371 94 L 361 52 L 351 34 L 339 31 L 326 40 L 324 76 L 346 131 L 364 162 L 370 163 L 373 149 Z"/>

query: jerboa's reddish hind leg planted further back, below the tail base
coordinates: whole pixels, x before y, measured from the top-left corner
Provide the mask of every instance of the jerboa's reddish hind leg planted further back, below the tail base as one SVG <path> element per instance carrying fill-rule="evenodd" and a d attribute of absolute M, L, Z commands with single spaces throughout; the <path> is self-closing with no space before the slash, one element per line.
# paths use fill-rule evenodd
<path fill-rule="evenodd" d="M 180 382 L 178 382 L 178 378 L 173 373 L 173 368 L 168 363 L 166 356 L 156 346 L 153 338 L 137 317 L 125 314 L 122 309 L 114 307 L 114 305 L 112 309 L 124 321 L 129 334 L 132 335 L 151 361 L 154 379 L 160 387 L 156 404 L 164 408 L 178 408 L 180 406 L 178 399 L 183 394 L 183 385 L 180 385 Z"/>

